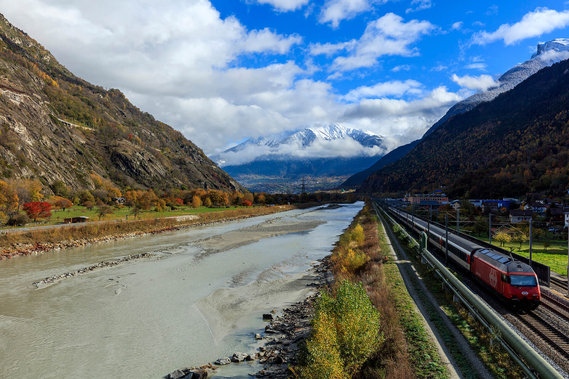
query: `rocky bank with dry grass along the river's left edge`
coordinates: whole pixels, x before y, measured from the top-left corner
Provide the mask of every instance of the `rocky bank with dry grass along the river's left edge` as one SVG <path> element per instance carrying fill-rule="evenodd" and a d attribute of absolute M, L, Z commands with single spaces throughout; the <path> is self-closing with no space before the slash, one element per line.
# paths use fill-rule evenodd
<path fill-rule="evenodd" d="M 73 248 L 73 247 L 81 247 L 81 246 L 92 245 L 92 244 L 96 244 L 96 243 L 117 241 L 117 240 L 122 240 L 122 239 L 126 239 L 126 238 L 141 237 L 141 236 L 145 236 L 145 235 L 149 235 L 149 234 L 160 234 L 160 233 L 174 231 L 174 230 L 182 230 L 182 229 L 186 229 L 186 228 L 213 225 L 213 224 L 218 224 L 218 223 L 222 223 L 222 222 L 236 221 L 236 220 L 250 218 L 250 217 L 270 215 L 270 214 L 279 213 L 279 212 L 284 211 L 284 210 L 288 210 L 288 209 L 280 209 L 280 207 L 278 207 L 278 209 L 275 209 L 275 208 L 277 208 L 277 207 L 273 207 L 270 211 L 259 213 L 259 214 L 252 214 L 252 215 L 247 214 L 247 215 L 242 215 L 242 216 L 226 217 L 226 218 L 213 220 L 213 221 L 203 221 L 200 219 L 196 219 L 196 220 L 193 220 L 192 222 L 187 222 L 187 223 L 182 223 L 182 224 L 172 225 L 172 226 L 153 228 L 151 230 L 146 230 L 146 231 L 134 231 L 134 232 L 128 232 L 128 233 L 109 234 L 106 236 L 97 236 L 97 237 L 93 237 L 93 238 L 66 239 L 63 241 L 55 242 L 55 243 L 42 242 L 42 241 L 37 241 L 37 242 L 32 243 L 32 244 L 20 244 L 20 243 L 18 243 L 15 245 L 15 247 L 2 248 L 2 251 L 0 251 L 0 260 L 10 259 L 13 257 L 18 257 L 18 256 L 23 256 L 23 255 L 39 254 L 39 253 L 57 251 L 57 250 L 68 249 L 68 248 Z M 138 222 L 138 221 L 133 220 L 131 222 L 134 223 L 134 222 Z"/>

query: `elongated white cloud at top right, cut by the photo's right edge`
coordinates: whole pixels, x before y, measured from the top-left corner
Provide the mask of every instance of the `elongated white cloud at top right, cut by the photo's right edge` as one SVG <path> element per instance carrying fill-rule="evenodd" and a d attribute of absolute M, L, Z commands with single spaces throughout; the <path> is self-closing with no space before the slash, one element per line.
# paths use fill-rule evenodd
<path fill-rule="evenodd" d="M 538 7 L 533 12 L 526 13 L 515 24 L 502 24 L 494 32 L 481 31 L 472 36 L 471 43 L 484 45 L 497 40 L 512 45 L 526 38 L 541 36 L 558 28 L 569 25 L 569 10 L 556 11 Z"/>

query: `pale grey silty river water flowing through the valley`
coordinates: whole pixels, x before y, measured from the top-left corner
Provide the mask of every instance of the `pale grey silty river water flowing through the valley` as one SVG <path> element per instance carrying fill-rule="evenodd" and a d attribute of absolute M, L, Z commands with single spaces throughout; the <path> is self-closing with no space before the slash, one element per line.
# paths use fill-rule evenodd
<path fill-rule="evenodd" d="M 328 255 L 363 206 L 293 210 L 0 261 L 1 378 L 160 378 L 255 351 L 262 313 L 307 294 L 306 270 Z M 197 259 L 188 243 L 275 217 L 324 220 L 303 232 Z M 33 282 L 104 260 L 182 246 L 46 288 Z M 221 366 L 249 378 L 257 363 Z"/>

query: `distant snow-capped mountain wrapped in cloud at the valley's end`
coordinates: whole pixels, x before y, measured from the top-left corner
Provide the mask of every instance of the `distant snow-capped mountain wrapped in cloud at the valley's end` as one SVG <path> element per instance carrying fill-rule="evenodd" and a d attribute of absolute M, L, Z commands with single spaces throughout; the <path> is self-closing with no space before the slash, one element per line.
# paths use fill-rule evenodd
<path fill-rule="evenodd" d="M 345 178 L 377 161 L 382 141 L 382 136 L 370 131 L 331 124 L 250 138 L 211 158 L 249 188 L 256 188 L 250 178 L 258 176 L 265 184 L 319 177 L 328 187 L 333 185 L 326 178 Z"/>

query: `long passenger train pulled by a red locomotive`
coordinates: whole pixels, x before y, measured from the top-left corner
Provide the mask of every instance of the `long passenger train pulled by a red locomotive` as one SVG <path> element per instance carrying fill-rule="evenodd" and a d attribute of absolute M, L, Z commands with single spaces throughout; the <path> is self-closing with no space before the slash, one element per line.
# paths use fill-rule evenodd
<path fill-rule="evenodd" d="M 429 242 L 443 253 L 447 235 L 444 229 L 404 211 L 390 207 L 391 214 L 419 234 L 425 232 Z M 448 258 L 469 272 L 482 285 L 517 309 L 536 309 L 541 303 L 537 275 L 527 264 L 512 256 L 482 247 L 457 235 L 448 234 Z"/>

